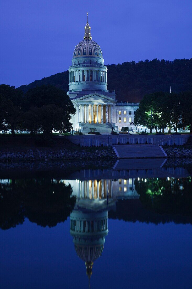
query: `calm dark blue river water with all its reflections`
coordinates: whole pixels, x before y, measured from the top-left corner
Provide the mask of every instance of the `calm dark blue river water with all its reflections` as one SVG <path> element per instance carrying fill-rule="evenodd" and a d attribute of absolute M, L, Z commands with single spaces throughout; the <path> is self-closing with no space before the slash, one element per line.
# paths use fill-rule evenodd
<path fill-rule="evenodd" d="M 6 164 L 0 288 L 191 288 L 191 165 Z"/>

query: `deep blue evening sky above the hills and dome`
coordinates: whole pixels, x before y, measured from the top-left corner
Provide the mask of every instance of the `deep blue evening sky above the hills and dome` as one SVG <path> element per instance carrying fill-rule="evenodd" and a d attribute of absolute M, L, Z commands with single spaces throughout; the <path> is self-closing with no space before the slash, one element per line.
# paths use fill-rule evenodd
<path fill-rule="evenodd" d="M 16 87 L 66 71 L 91 34 L 105 64 L 191 58 L 191 0 L 1 0 L 0 84 Z"/>

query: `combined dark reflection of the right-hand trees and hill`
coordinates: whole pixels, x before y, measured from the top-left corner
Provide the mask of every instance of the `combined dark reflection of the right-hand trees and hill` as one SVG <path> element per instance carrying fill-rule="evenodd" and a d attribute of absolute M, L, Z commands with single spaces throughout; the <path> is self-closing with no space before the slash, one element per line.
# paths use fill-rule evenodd
<path fill-rule="evenodd" d="M 118 200 L 109 218 L 155 224 L 174 221 L 192 224 L 192 183 L 186 179 L 135 179 L 140 199 Z"/>

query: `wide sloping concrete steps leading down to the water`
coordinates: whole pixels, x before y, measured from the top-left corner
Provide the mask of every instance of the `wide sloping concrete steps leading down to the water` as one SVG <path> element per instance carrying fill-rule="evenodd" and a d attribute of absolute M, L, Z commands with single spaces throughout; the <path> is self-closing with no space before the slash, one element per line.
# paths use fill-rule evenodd
<path fill-rule="evenodd" d="M 118 158 L 165 158 L 162 147 L 153 144 L 120 144 L 113 146 Z"/>

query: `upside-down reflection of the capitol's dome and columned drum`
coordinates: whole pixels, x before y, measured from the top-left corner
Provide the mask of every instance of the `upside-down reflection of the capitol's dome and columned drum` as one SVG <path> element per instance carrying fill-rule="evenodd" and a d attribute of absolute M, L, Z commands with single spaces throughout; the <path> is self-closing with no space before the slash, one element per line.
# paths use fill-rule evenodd
<path fill-rule="evenodd" d="M 73 210 L 70 215 L 70 234 L 76 253 L 86 265 L 89 279 L 93 262 L 101 256 L 105 236 L 108 234 L 108 211 L 82 212 Z"/>

